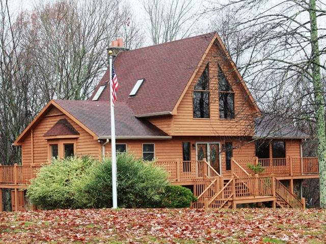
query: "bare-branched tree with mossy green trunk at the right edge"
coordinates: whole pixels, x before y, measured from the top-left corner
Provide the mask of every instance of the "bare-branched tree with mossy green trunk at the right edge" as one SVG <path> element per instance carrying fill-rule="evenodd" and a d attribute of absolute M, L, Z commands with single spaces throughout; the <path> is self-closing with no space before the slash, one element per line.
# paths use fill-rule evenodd
<path fill-rule="evenodd" d="M 248 64 L 238 68 L 246 69 L 246 80 L 256 101 L 264 110 L 277 112 L 296 123 L 308 120 L 315 124 L 320 205 L 325 208 L 326 138 L 321 73 L 326 67 L 320 58 L 326 49 L 325 28 L 317 25 L 317 20 L 326 14 L 325 5 L 317 1 L 316 6 L 315 0 L 240 0 L 216 4 L 210 11 L 216 14 L 228 8 L 237 20 L 231 31 L 251 35 L 253 55 Z"/>

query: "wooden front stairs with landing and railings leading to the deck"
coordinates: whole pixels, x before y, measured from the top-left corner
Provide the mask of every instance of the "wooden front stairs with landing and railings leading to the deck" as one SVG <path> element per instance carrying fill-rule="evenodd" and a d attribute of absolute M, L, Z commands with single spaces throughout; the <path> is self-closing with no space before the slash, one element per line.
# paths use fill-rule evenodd
<path fill-rule="evenodd" d="M 238 165 L 234 164 L 234 167 Z M 230 208 L 239 203 L 274 202 L 281 208 L 304 208 L 304 199 L 299 200 L 274 175 L 250 175 L 237 167 L 232 178 L 224 183 L 222 176 L 196 179 L 194 194 L 198 201 L 194 208 Z M 238 175 L 241 175 L 238 176 Z"/>

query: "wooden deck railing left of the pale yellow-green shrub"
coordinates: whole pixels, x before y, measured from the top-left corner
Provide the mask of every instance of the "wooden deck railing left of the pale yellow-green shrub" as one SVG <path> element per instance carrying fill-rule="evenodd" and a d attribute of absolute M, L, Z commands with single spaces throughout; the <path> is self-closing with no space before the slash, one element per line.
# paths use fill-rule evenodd
<path fill-rule="evenodd" d="M 24 184 L 30 183 L 35 178 L 42 166 L 13 166 L 0 165 L 0 184 Z"/>

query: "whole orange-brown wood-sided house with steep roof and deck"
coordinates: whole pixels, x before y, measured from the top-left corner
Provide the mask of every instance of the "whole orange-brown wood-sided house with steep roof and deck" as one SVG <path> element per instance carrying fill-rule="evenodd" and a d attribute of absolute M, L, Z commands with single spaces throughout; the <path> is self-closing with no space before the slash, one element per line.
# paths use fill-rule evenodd
<path fill-rule="evenodd" d="M 319 177 L 317 158 L 302 157 L 309 137 L 259 117 L 216 33 L 135 50 L 121 39 L 112 44 L 117 150 L 155 160 L 172 184 L 194 192 L 193 207 L 305 206 L 301 181 Z M 21 165 L 0 166 L 0 189 L 13 189 L 13 210 L 29 209 L 24 189 L 52 157 L 101 159 L 111 151 L 109 73 L 89 101 L 51 100 L 15 140 Z"/>

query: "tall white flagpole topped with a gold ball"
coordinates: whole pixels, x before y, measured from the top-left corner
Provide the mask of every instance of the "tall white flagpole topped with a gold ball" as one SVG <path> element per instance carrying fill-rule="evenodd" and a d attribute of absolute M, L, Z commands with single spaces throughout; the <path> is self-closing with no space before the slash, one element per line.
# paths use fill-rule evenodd
<path fill-rule="evenodd" d="M 118 207 L 117 201 L 117 157 L 116 157 L 116 128 L 114 122 L 114 104 L 112 96 L 112 51 L 110 50 L 110 110 L 111 110 L 111 149 L 112 149 L 112 208 Z"/>

